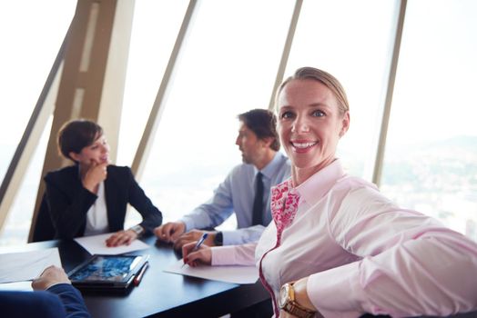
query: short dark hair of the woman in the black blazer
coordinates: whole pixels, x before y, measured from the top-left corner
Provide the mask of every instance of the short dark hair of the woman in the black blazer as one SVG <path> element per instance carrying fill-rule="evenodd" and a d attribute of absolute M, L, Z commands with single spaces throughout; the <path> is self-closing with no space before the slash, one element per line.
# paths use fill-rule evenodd
<path fill-rule="evenodd" d="M 64 124 L 58 132 L 58 150 L 66 158 L 75 161 L 69 153 L 81 153 L 81 149 L 93 144 L 103 134 L 103 128 L 95 122 L 78 119 Z"/>

